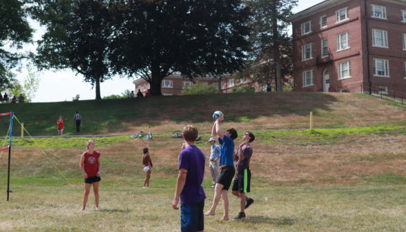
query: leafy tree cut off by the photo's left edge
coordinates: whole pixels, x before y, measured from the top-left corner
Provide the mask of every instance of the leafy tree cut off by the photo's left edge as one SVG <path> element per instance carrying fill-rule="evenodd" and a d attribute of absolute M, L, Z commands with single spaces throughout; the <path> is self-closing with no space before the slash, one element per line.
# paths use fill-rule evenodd
<path fill-rule="evenodd" d="M 32 42 L 33 29 L 27 21 L 26 1 L 0 0 L 0 88 L 9 88 L 14 75 L 10 72 L 24 58 L 23 43 Z M 6 48 L 9 46 L 9 48 Z"/>

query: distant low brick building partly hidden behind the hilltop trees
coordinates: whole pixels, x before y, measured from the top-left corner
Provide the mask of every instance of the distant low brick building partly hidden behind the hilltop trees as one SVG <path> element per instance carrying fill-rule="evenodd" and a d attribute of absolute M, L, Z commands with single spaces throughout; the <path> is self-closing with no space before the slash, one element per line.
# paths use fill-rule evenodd
<path fill-rule="evenodd" d="M 207 84 L 211 84 L 217 86 L 219 88 L 220 93 L 231 93 L 231 88 L 238 87 L 244 85 L 245 81 L 239 81 L 235 83 L 234 81 L 235 75 L 230 75 L 228 77 L 223 77 L 221 80 L 218 78 L 213 77 L 205 77 L 205 78 L 195 78 L 193 81 L 200 81 Z M 135 94 L 137 94 L 138 90 L 141 90 L 141 93 L 146 93 L 149 89 L 149 84 L 144 79 L 136 79 L 133 81 L 135 85 Z M 193 82 L 190 79 L 183 79 L 179 72 L 174 72 L 172 75 L 165 77 L 162 81 L 161 86 L 161 93 L 162 95 L 179 95 L 182 92 L 182 88 L 187 86 L 193 85 Z M 258 86 L 254 85 L 255 92 L 266 91 L 266 86 Z"/>

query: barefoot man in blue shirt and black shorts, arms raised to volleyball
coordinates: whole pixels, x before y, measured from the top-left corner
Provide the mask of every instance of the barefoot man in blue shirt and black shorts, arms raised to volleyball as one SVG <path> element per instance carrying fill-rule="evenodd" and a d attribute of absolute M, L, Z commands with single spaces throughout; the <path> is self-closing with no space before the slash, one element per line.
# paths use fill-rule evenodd
<path fill-rule="evenodd" d="M 234 168 L 234 139 L 238 137 L 237 131 L 234 128 L 231 128 L 222 133 L 222 128 L 220 128 L 220 122 L 224 120 L 224 116 L 215 120 L 213 125 L 213 130 L 211 131 L 211 137 L 213 139 L 218 139 L 218 142 L 222 145 L 220 148 L 220 168 L 221 173 L 218 178 L 217 184 L 215 184 L 214 189 L 214 199 L 211 209 L 204 213 L 205 216 L 214 216 L 215 208 L 217 207 L 218 202 L 220 201 L 220 196 L 223 200 L 224 215 L 222 220 L 230 220 L 229 218 L 229 193 L 231 182 L 235 175 Z"/>

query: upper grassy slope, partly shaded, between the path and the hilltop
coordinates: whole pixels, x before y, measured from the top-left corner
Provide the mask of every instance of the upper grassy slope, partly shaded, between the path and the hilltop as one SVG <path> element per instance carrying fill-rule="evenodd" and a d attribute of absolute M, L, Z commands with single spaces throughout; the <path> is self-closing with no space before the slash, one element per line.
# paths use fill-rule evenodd
<path fill-rule="evenodd" d="M 129 134 L 148 131 L 171 133 L 185 124 L 211 131 L 215 110 L 225 115 L 224 128 L 238 131 L 405 125 L 405 107 L 361 94 L 342 93 L 229 93 L 218 95 L 160 96 L 144 99 L 64 101 L 0 104 L 0 113 L 14 111 L 31 135 L 57 135 L 57 119 L 65 120 L 64 135 L 76 135 L 75 111 L 83 117 L 79 135 Z M 0 117 L 0 136 L 8 119 Z M 15 122 L 13 135 L 21 129 Z"/>

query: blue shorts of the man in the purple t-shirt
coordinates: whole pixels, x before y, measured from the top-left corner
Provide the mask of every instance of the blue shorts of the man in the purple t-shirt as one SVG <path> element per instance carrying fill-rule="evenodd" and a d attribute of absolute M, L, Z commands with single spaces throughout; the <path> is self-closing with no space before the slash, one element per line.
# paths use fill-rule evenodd
<path fill-rule="evenodd" d="M 204 200 L 197 203 L 180 204 L 180 230 L 197 232 L 204 230 Z"/>

